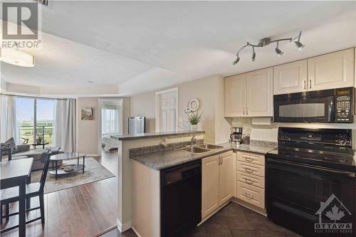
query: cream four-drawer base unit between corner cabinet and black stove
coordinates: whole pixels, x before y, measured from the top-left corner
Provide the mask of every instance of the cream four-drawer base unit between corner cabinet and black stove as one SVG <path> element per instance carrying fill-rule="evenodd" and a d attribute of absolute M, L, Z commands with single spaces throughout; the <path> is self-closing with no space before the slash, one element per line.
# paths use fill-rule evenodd
<path fill-rule="evenodd" d="M 265 209 L 265 157 L 263 154 L 236 152 L 234 161 L 236 198 Z"/>

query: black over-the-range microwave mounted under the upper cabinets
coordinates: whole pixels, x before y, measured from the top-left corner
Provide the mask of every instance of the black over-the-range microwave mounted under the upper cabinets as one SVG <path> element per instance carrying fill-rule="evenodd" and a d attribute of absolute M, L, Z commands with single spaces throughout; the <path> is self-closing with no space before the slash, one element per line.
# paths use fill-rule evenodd
<path fill-rule="evenodd" d="M 355 88 L 273 96 L 274 122 L 352 123 Z"/>

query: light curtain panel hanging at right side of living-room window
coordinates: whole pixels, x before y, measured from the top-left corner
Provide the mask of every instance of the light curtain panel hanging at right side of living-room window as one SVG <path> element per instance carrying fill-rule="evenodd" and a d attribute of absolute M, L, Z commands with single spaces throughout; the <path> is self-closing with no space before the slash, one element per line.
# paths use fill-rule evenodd
<path fill-rule="evenodd" d="M 65 152 L 75 152 L 76 149 L 76 107 L 75 99 L 57 100 L 55 115 L 53 145 L 61 147 Z"/>

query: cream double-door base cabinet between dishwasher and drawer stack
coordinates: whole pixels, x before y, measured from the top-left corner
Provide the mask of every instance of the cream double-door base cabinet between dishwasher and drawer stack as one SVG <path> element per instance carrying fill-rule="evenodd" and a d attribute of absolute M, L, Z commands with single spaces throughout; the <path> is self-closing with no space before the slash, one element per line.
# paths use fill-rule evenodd
<path fill-rule="evenodd" d="M 201 160 L 201 218 L 209 216 L 233 194 L 233 152 Z"/>

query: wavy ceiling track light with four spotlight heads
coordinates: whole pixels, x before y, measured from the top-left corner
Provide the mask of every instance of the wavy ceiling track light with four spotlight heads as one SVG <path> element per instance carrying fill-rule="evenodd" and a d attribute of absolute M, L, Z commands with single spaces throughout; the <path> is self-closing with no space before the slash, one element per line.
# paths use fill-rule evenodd
<path fill-rule="evenodd" d="M 243 50 L 244 48 L 246 48 L 247 46 L 251 46 L 252 47 L 252 57 L 251 57 L 251 61 L 255 61 L 256 60 L 256 53 L 255 53 L 255 47 L 264 47 L 264 46 L 268 46 L 271 43 L 276 43 L 276 48 L 274 48 L 274 51 L 276 52 L 278 57 L 281 57 L 283 55 L 283 51 L 281 51 L 281 49 L 278 46 L 279 41 L 289 41 L 290 43 L 294 43 L 295 46 L 298 48 L 299 51 L 303 50 L 303 48 L 305 47 L 303 45 L 303 43 L 300 43 L 300 36 L 302 35 L 302 31 L 299 32 L 299 35 L 295 38 L 280 38 L 277 39 L 275 41 L 271 41 L 271 38 L 263 38 L 261 39 L 260 43 L 254 45 L 252 43 L 246 43 L 245 46 L 243 46 L 242 48 L 240 48 L 239 51 L 237 51 L 236 53 L 236 59 L 234 60 L 234 62 L 232 63 L 233 65 L 235 65 L 236 63 L 239 63 L 240 60 L 240 56 L 239 53 L 241 50 Z"/>

